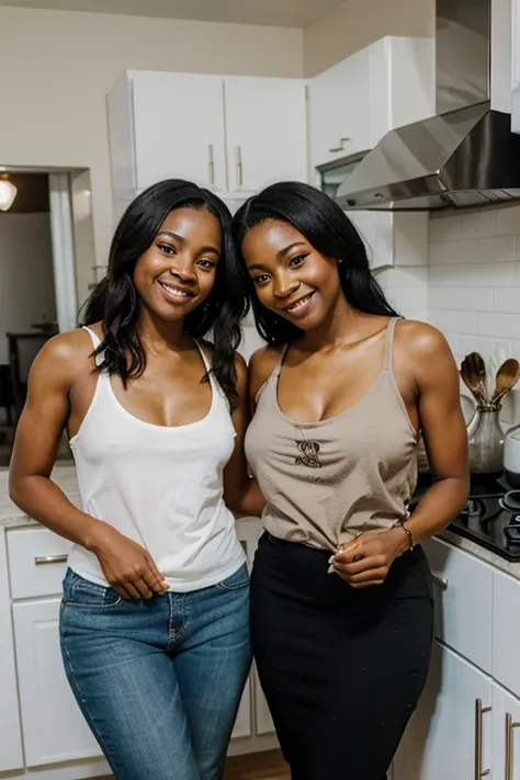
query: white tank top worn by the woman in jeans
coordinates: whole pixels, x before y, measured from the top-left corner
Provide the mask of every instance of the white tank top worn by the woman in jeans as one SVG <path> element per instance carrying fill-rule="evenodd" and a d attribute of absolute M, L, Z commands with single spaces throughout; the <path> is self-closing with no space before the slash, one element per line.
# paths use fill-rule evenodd
<path fill-rule="evenodd" d="M 97 335 L 86 330 L 98 348 Z M 212 405 L 202 420 L 163 427 L 127 411 L 102 372 L 70 440 L 83 511 L 146 547 L 171 590 L 180 592 L 216 585 L 246 559 L 223 499 L 235 428 L 212 374 L 210 382 Z M 68 563 L 81 577 L 108 585 L 97 556 L 84 547 L 75 545 Z"/>

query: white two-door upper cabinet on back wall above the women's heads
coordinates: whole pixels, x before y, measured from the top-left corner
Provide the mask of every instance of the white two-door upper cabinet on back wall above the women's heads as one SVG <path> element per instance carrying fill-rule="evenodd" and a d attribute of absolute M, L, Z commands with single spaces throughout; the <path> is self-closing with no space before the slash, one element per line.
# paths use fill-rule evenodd
<path fill-rule="evenodd" d="M 181 178 L 241 202 L 307 177 L 302 79 L 127 71 L 108 113 L 114 201 Z"/>

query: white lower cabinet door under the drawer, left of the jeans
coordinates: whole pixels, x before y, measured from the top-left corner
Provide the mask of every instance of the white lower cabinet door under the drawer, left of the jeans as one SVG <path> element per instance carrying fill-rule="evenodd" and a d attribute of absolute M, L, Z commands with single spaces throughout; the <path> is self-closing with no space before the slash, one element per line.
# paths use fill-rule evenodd
<path fill-rule="evenodd" d="M 65 676 L 59 606 L 60 599 L 13 606 L 27 767 L 101 756 Z"/>

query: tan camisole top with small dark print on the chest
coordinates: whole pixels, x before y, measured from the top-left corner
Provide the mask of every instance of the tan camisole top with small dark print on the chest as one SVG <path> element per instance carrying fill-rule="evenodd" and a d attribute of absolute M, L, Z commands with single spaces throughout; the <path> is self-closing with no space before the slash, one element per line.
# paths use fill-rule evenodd
<path fill-rule="evenodd" d="M 362 531 L 407 517 L 417 484 L 417 434 L 392 368 L 397 320 L 388 324 L 376 381 L 340 415 L 296 423 L 283 414 L 278 380 L 284 355 L 259 391 L 246 455 L 273 536 L 336 550 Z"/>

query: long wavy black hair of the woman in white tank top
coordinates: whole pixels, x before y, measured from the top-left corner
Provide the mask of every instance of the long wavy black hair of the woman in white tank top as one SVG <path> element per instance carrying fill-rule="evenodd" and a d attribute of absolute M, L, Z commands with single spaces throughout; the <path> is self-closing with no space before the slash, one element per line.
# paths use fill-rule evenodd
<path fill-rule="evenodd" d="M 212 192 L 170 179 L 148 188 L 129 204 L 112 239 L 106 275 L 87 301 L 81 325 L 102 320 L 103 340 L 94 353 L 102 355 L 100 371 L 117 374 L 125 386 L 128 380 L 143 374 L 146 353 L 136 329 L 139 301 L 133 281 L 134 269 L 168 214 L 182 207 L 207 208 L 222 227 L 223 251 L 215 283 L 203 305 L 185 317 L 184 330 L 193 338 L 203 338 L 212 330 L 212 371 L 233 408 L 237 402 L 234 351 L 240 342 L 239 321 L 245 299 L 236 275 L 229 273 L 230 267 L 236 271 L 231 215 Z"/>

